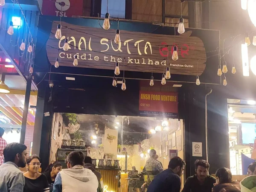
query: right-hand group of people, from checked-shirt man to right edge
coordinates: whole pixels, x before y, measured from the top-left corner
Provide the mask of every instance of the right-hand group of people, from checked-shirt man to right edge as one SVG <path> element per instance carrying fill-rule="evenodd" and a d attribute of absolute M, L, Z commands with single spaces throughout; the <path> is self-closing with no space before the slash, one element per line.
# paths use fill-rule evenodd
<path fill-rule="evenodd" d="M 222 167 L 209 175 L 209 163 L 206 160 L 195 161 L 195 175 L 188 177 L 181 190 L 180 177 L 185 169 L 185 161 L 180 157 L 170 160 L 168 169 L 163 170 L 157 160 L 156 151 L 150 151 L 150 158 L 146 161 L 145 171 L 148 181 L 142 189 L 147 192 L 256 192 L 256 162 L 248 166 L 247 175 L 240 183 L 232 179 L 230 169 Z"/>

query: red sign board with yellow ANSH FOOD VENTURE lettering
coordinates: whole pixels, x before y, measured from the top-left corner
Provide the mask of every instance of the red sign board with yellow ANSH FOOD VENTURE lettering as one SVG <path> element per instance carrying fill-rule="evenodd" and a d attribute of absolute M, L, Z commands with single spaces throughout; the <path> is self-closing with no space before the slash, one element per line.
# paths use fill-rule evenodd
<path fill-rule="evenodd" d="M 178 96 L 176 92 L 151 92 L 140 90 L 140 114 L 177 118 Z"/>

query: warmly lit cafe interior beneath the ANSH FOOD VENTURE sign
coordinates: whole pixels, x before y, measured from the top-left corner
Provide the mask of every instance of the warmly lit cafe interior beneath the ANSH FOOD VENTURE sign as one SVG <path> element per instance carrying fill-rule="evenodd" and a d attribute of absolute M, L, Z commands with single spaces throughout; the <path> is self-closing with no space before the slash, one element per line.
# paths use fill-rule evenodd
<path fill-rule="evenodd" d="M 54 113 L 49 163 L 58 160 L 65 168 L 67 154 L 81 150 L 102 173 L 107 191 L 137 192 L 151 149 L 163 169 L 173 156 L 184 159 L 183 134 L 179 119 Z"/>

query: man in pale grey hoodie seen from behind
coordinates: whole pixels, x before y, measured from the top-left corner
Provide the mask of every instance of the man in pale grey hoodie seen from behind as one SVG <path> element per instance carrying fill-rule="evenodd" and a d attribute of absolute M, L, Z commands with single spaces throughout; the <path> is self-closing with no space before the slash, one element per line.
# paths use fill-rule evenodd
<path fill-rule="evenodd" d="M 81 151 L 72 151 L 67 156 L 67 168 L 62 169 L 55 178 L 53 192 L 97 192 L 98 180 L 96 175 L 84 168 L 84 154 Z"/>

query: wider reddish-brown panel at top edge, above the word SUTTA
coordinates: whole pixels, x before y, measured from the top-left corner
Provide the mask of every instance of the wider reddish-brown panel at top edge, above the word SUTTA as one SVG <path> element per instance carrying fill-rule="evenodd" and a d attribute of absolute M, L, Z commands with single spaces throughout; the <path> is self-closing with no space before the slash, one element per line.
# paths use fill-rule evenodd
<path fill-rule="evenodd" d="M 132 19 L 162 22 L 162 0 L 133 0 Z"/>

